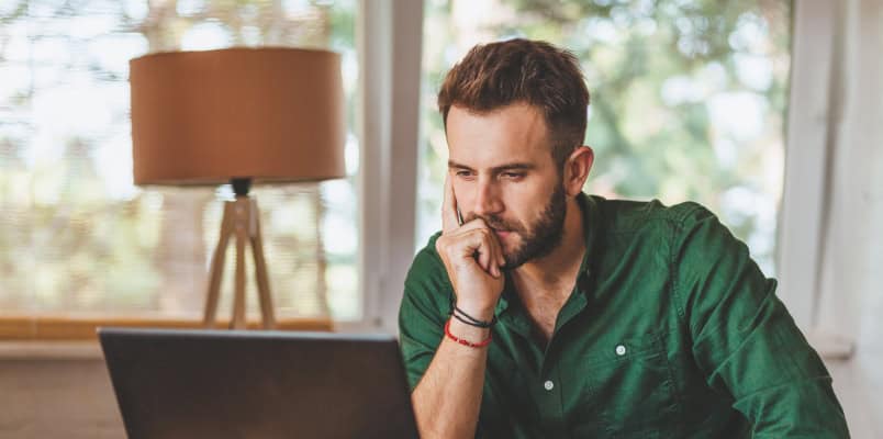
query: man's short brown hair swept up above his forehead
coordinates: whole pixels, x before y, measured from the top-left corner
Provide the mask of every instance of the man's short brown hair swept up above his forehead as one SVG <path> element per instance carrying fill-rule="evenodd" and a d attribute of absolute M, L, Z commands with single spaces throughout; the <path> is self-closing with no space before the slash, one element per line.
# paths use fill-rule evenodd
<path fill-rule="evenodd" d="M 484 113 L 513 103 L 543 113 L 558 169 L 585 136 L 589 90 L 577 57 L 546 42 L 508 40 L 477 45 L 445 77 L 438 111 L 451 105 Z"/>

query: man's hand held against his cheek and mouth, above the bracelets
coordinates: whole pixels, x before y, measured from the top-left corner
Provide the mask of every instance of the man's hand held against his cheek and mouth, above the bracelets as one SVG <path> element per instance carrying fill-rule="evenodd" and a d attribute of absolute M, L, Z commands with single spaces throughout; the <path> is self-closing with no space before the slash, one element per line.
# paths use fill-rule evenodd
<path fill-rule="evenodd" d="M 454 285 L 457 306 L 476 318 L 490 320 L 503 292 L 503 250 L 483 219 L 460 224 L 450 178 L 445 179 L 442 236 L 435 248 Z"/>

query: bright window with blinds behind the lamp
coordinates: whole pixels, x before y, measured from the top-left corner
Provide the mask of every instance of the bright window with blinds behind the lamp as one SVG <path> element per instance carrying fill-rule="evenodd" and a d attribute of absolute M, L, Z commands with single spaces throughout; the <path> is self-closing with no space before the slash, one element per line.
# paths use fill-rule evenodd
<path fill-rule="evenodd" d="M 2 313 L 199 318 L 221 201 L 232 191 L 133 185 L 128 59 L 228 46 L 331 48 L 343 55 L 351 103 L 356 10 L 356 0 L 0 3 Z M 347 108 L 348 179 L 254 190 L 280 317 L 361 315 L 359 143 L 355 105 Z M 232 302 L 232 268 L 225 273 L 222 316 Z M 249 279 L 256 315 L 254 290 Z"/>

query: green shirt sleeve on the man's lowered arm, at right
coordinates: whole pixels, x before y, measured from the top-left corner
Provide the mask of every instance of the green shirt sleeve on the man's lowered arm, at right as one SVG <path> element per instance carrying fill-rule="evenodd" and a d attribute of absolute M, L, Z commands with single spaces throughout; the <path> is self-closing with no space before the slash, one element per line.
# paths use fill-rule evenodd
<path fill-rule="evenodd" d="M 753 424 L 755 438 L 848 438 L 821 359 L 748 248 L 692 204 L 672 245 L 673 289 L 696 364 Z"/>

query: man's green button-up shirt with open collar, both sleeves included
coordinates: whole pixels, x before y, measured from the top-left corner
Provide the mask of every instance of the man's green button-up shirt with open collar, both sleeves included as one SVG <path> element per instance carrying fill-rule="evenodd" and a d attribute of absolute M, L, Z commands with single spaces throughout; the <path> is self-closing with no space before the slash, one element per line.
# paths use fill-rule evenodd
<path fill-rule="evenodd" d="M 578 202 L 586 252 L 547 346 L 506 281 L 479 437 L 849 437 L 831 379 L 776 282 L 711 212 Z M 415 257 L 399 314 L 412 389 L 454 299 L 437 237 Z"/>

